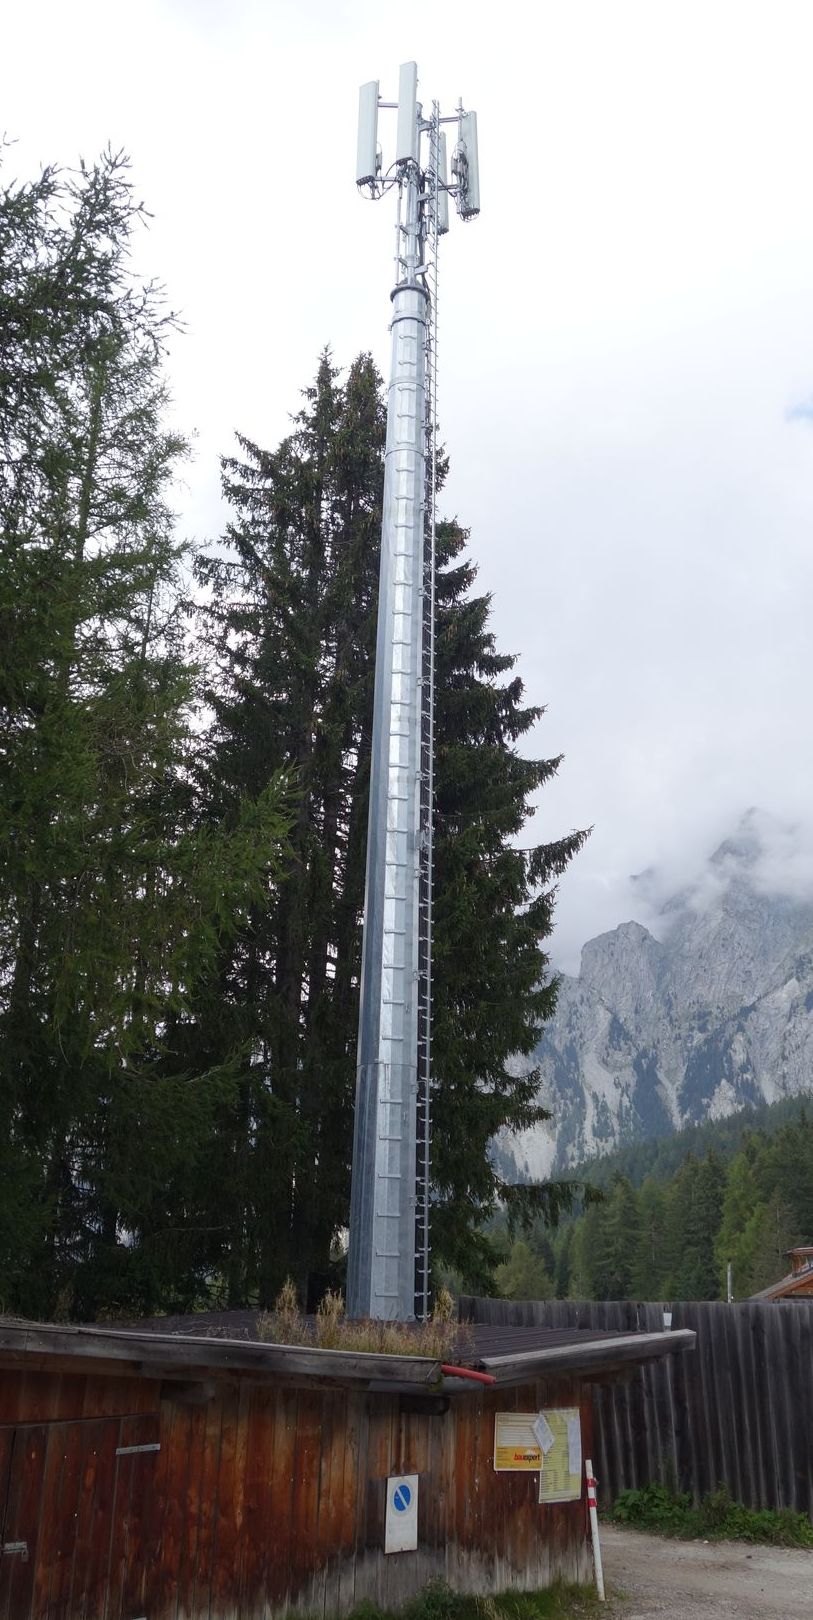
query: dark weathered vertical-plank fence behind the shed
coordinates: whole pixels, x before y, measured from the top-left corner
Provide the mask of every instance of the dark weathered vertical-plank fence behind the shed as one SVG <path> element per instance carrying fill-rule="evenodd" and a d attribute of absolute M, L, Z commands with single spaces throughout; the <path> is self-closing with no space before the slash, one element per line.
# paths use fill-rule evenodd
<path fill-rule="evenodd" d="M 693 1328 L 696 1349 L 594 1387 L 599 1497 L 659 1479 L 695 1497 L 727 1486 L 748 1507 L 813 1516 L 813 1301 L 462 1301 L 473 1322 L 628 1333 L 662 1328 L 664 1309 L 674 1328 Z"/>

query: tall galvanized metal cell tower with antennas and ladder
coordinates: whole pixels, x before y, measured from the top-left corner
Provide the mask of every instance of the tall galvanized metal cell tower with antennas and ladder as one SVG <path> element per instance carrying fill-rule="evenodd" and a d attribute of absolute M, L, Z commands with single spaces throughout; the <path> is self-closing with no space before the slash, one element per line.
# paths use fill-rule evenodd
<path fill-rule="evenodd" d="M 387 170 L 381 109 L 398 115 Z M 347 1296 L 410 1320 L 429 1312 L 437 245 L 450 196 L 479 214 L 476 113 L 424 117 L 415 62 L 397 102 L 363 84 L 356 185 L 395 191 L 397 225 Z"/>

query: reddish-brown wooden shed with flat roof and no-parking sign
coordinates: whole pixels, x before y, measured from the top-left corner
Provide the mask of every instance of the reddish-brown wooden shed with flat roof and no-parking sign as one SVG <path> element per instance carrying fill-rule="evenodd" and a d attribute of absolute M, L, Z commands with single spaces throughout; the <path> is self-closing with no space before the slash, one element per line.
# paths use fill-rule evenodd
<path fill-rule="evenodd" d="M 248 1312 L 138 1332 L 0 1317 L 0 1617 L 269 1620 L 398 1607 L 432 1578 L 588 1581 L 590 1383 L 692 1345 L 476 1328 L 450 1367 L 262 1343 Z M 575 1489 L 541 1502 L 565 1414 Z"/>

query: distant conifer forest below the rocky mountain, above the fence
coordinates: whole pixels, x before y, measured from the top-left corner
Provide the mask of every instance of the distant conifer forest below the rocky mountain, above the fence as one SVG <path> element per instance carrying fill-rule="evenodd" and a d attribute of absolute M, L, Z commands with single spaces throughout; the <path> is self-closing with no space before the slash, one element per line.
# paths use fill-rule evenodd
<path fill-rule="evenodd" d="M 510 1241 L 497 1223 L 496 1281 L 513 1299 L 735 1299 L 790 1270 L 787 1251 L 813 1241 L 813 1116 L 805 1103 L 760 1121 L 703 1128 L 704 1152 L 682 1132 L 641 1144 L 578 1174 L 602 1202 Z M 666 1149 L 666 1152 L 662 1152 Z M 677 1160 L 677 1163 L 675 1163 Z"/>

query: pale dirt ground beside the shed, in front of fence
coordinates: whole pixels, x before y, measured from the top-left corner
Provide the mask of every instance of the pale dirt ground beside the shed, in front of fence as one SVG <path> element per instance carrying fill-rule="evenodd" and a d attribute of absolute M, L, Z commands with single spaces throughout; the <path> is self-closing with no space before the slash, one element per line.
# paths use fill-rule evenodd
<path fill-rule="evenodd" d="M 813 1549 L 664 1541 L 602 1526 L 604 1580 L 617 1620 L 811 1620 Z"/>

